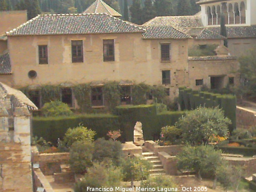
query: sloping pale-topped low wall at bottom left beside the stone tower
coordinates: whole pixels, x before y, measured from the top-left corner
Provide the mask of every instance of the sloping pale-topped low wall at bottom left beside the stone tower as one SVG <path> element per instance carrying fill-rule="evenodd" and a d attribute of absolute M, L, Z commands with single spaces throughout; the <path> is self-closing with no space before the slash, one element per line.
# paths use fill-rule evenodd
<path fill-rule="evenodd" d="M 50 183 L 45 178 L 44 174 L 41 172 L 40 169 L 34 169 L 33 170 L 33 175 L 34 175 L 34 189 L 35 189 L 35 191 L 38 187 L 43 187 L 44 192 L 54 192 Z"/>

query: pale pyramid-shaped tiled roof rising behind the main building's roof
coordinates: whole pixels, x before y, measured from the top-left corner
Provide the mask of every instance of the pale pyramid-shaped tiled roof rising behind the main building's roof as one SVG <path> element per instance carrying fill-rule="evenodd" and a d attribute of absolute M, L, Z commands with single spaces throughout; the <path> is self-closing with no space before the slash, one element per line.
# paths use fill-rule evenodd
<path fill-rule="evenodd" d="M 88 7 L 83 13 L 107 13 L 114 17 L 121 17 L 122 15 L 106 4 L 102 0 L 96 0 L 90 7 Z"/>

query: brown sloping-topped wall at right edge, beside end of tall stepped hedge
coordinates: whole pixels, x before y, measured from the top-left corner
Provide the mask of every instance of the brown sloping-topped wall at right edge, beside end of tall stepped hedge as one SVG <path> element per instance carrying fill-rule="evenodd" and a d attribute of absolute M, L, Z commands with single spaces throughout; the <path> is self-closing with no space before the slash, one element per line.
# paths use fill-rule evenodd
<path fill-rule="evenodd" d="M 236 125 L 252 126 L 256 124 L 256 112 L 250 109 L 236 106 Z"/>

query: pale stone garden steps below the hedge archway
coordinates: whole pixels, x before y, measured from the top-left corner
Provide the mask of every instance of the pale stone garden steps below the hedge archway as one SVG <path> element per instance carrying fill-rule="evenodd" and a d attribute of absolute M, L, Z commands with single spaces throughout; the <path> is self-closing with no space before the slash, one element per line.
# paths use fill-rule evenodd
<path fill-rule="evenodd" d="M 164 167 L 158 156 L 154 152 L 144 152 L 142 153 L 144 159 L 147 159 L 153 166 L 149 171 L 150 175 L 165 175 Z"/>

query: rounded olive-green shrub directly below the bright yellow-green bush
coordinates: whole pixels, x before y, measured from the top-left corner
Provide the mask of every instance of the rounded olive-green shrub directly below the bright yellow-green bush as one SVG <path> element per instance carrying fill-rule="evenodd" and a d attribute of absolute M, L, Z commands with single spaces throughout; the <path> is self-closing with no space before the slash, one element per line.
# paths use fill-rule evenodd
<path fill-rule="evenodd" d="M 83 174 L 88 167 L 92 166 L 92 150 L 91 142 L 76 141 L 72 144 L 69 164 L 73 172 Z"/>

